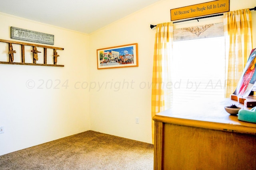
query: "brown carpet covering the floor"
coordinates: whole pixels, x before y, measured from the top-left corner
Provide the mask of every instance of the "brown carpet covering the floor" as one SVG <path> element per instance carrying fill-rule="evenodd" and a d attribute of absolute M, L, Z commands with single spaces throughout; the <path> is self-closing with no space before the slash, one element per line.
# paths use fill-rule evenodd
<path fill-rule="evenodd" d="M 1 170 L 153 170 L 153 145 L 86 131 L 0 156 Z"/>

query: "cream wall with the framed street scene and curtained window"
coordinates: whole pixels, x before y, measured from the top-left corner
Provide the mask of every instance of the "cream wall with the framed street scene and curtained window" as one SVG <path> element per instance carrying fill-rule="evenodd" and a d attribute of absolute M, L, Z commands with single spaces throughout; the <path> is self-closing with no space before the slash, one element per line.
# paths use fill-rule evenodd
<path fill-rule="evenodd" d="M 90 117 L 91 129 L 112 135 L 126 137 L 138 141 L 152 143 L 151 137 L 151 88 L 152 65 L 154 54 L 155 29 L 150 29 L 150 24 L 156 25 L 170 21 L 170 9 L 179 8 L 206 2 L 205 0 L 163 0 L 144 8 L 122 20 L 95 31 L 90 35 L 90 81 L 105 85 L 113 84 L 90 90 Z M 255 0 L 230 0 L 230 11 L 243 8 L 253 8 Z M 253 21 L 256 12 L 253 13 Z M 190 25 L 203 25 L 206 22 L 218 23 L 223 17 L 208 18 L 200 22 L 187 21 L 174 24 L 174 28 Z M 256 36 L 256 22 L 254 22 L 254 37 Z M 114 68 L 97 70 L 96 50 L 138 43 L 138 67 Z M 256 42 L 254 40 L 254 46 Z M 130 82 L 118 90 L 114 84 Z M 146 87 L 144 86 L 146 84 Z M 126 84 L 125 84 L 126 85 Z M 149 86 L 148 86 L 149 85 Z M 140 124 L 135 123 L 135 117 L 140 118 Z"/>

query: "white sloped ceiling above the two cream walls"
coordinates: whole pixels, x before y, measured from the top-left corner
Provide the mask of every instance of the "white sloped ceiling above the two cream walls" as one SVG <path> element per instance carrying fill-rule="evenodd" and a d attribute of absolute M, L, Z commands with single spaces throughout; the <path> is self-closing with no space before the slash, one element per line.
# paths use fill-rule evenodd
<path fill-rule="evenodd" d="M 160 0 L 0 0 L 0 12 L 92 33 Z"/>

